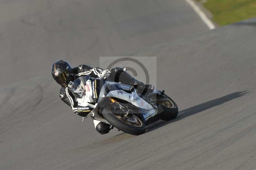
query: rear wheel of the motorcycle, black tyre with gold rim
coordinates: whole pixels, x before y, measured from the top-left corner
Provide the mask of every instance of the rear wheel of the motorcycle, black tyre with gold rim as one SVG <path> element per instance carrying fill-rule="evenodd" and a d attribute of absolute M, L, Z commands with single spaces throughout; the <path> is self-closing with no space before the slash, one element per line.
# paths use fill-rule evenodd
<path fill-rule="evenodd" d="M 163 108 L 162 120 L 172 120 L 178 115 L 179 109 L 177 104 L 167 95 L 160 96 L 165 101 L 159 101 L 158 104 Z M 159 99 L 159 98 L 158 98 Z M 166 100 L 167 99 L 167 100 Z"/>

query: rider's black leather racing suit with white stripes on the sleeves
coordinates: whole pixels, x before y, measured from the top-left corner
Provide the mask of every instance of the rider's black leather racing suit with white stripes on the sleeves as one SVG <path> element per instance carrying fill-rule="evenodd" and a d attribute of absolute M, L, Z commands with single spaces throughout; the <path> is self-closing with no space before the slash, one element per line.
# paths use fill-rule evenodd
<path fill-rule="evenodd" d="M 101 68 L 96 67 L 90 67 L 87 65 L 80 65 L 73 68 L 73 73 L 75 74 L 75 78 L 90 75 L 90 77 L 100 77 L 100 71 L 102 71 Z M 132 76 L 126 72 L 120 67 L 116 67 L 111 69 L 111 73 L 107 79 L 108 81 L 120 81 L 124 84 L 133 85 L 135 83 L 135 79 L 132 78 Z M 75 96 L 72 94 L 72 92 L 69 90 L 68 87 L 61 86 L 60 88 L 60 99 L 71 106 L 72 110 L 78 114 L 81 117 L 87 116 L 89 112 L 79 112 L 77 111 L 77 102 Z"/>

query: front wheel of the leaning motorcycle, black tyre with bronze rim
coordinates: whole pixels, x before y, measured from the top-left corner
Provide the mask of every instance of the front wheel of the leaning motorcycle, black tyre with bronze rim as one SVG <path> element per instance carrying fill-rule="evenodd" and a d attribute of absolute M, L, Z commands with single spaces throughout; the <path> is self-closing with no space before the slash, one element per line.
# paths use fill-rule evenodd
<path fill-rule="evenodd" d="M 140 116 L 132 114 L 131 119 L 125 119 L 117 114 L 112 106 L 109 106 L 109 108 L 109 110 L 103 110 L 102 115 L 111 125 L 131 135 L 141 135 L 145 133 L 146 126 Z"/>

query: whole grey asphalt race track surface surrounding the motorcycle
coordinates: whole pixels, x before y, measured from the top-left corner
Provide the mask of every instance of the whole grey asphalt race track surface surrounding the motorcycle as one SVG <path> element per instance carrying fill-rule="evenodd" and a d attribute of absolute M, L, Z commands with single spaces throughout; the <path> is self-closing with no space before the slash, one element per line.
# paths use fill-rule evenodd
<path fill-rule="evenodd" d="M 0 15 L 1 170 L 256 169 L 256 19 L 206 31 L 181 1 L 152 1 L 146 8 L 137 1 L 115 1 L 118 7 L 72 2 L 1 1 L 1 12 L 7 11 Z M 136 11 L 136 2 L 145 11 Z M 156 24 L 145 34 L 149 28 L 140 26 L 131 38 L 138 29 L 128 26 L 147 12 L 149 18 L 169 14 L 171 21 L 172 12 L 179 15 L 173 25 Z M 83 15 L 93 24 L 84 24 Z M 189 35 L 193 30 L 198 34 Z M 95 43 L 85 37 L 96 37 Z M 92 120 L 82 122 L 60 101 L 50 77 L 53 61 L 63 56 L 72 57 L 72 65 L 97 64 L 84 56 L 115 54 L 157 56 L 157 86 L 178 104 L 176 119 L 158 121 L 140 136 L 100 135 Z"/>

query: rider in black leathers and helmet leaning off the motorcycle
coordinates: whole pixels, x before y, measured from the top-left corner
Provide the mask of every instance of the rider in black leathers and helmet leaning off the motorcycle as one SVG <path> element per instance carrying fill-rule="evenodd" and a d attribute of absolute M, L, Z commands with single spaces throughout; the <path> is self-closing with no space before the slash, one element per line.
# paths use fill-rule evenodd
<path fill-rule="evenodd" d="M 137 81 L 130 74 L 126 73 L 124 69 L 120 67 L 108 69 L 101 69 L 97 67 L 90 67 L 87 65 L 79 65 L 77 67 L 71 67 L 67 61 L 58 60 L 52 64 L 52 77 L 61 85 L 60 88 L 60 99 L 71 106 L 72 110 L 81 117 L 86 117 L 89 112 L 79 112 L 77 109 L 77 101 L 75 96 L 68 88 L 69 81 L 74 81 L 76 78 L 90 75 L 90 77 L 97 78 L 103 77 L 108 78 L 108 81 L 122 82 L 123 84 L 134 86 L 138 91 L 153 91 L 153 85 L 146 85 L 140 81 Z M 92 96 L 86 96 L 92 99 Z M 94 120 L 95 129 L 100 134 L 106 134 L 110 128 L 107 123 Z"/>

